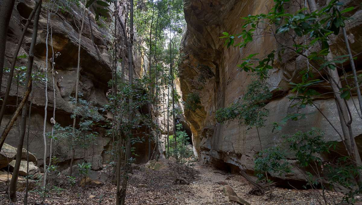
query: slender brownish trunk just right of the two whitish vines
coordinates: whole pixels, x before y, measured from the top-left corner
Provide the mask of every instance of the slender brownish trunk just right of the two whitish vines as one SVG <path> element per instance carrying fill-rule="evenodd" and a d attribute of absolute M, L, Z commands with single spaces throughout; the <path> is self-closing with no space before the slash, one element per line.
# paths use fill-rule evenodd
<path fill-rule="evenodd" d="M 79 67 L 80 67 L 80 43 L 81 43 L 81 39 L 82 39 L 82 32 L 83 32 L 83 25 L 84 25 L 84 16 L 85 16 L 85 11 L 86 11 L 86 7 L 84 7 L 83 10 L 83 17 L 82 17 L 82 25 L 80 26 L 80 31 L 79 31 L 79 41 L 78 41 L 78 64 L 77 64 L 77 78 L 76 78 L 76 83 L 75 83 L 75 105 L 74 105 L 74 110 L 77 107 L 77 103 L 78 103 L 78 84 L 79 84 Z M 76 116 L 74 116 L 73 118 L 73 127 L 72 127 L 72 158 L 70 161 L 70 171 L 69 171 L 69 176 L 72 176 L 72 171 L 73 171 L 73 162 L 74 162 L 74 155 L 75 155 L 75 146 L 73 143 L 73 138 L 75 135 L 75 122 L 76 122 Z"/>

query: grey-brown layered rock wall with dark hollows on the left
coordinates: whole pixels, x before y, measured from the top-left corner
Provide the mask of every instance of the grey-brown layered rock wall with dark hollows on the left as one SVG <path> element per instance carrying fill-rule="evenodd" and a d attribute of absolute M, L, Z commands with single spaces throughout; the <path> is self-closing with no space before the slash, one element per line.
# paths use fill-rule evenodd
<path fill-rule="evenodd" d="M 76 69 L 78 58 L 78 40 L 79 40 L 79 28 L 82 20 L 82 13 L 84 5 L 76 5 L 75 3 L 69 4 L 72 1 L 59 0 L 57 4 L 50 4 L 48 1 L 43 1 L 43 8 L 40 16 L 38 38 L 35 49 L 34 58 L 34 73 L 38 69 L 45 68 L 46 59 L 46 33 L 47 33 L 47 8 L 51 8 L 53 11 L 50 14 L 50 28 L 52 30 L 52 42 L 54 52 L 59 52 L 59 55 L 55 59 L 54 69 L 57 72 L 55 75 L 55 90 L 56 90 L 56 114 L 55 120 L 62 126 L 71 125 L 73 120 L 70 117 L 72 114 L 73 106 L 70 101 L 70 97 L 75 95 L 76 86 Z M 10 67 L 11 59 L 14 50 L 18 43 L 18 38 L 21 35 L 24 28 L 26 19 L 35 5 L 34 0 L 17 0 L 10 20 L 8 37 L 7 37 L 7 50 L 5 67 Z M 84 28 L 81 37 L 81 51 L 80 51 L 80 82 L 79 91 L 84 94 L 84 99 L 91 101 L 94 106 L 103 106 L 108 103 L 106 93 L 109 90 L 108 81 L 111 79 L 111 62 L 112 62 L 112 41 L 114 33 L 114 5 L 111 4 L 109 9 L 109 16 L 107 18 L 100 18 L 99 21 L 95 20 L 94 9 L 90 8 L 90 24 L 88 14 L 84 16 Z M 120 7 L 119 13 L 124 15 L 126 8 Z M 90 26 L 92 26 L 94 43 L 92 42 L 92 35 Z M 121 29 L 120 27 L 118 29 Z M 19 55 L 28 54 L 31 41 L 32 25 L 29 26 L 25 34 L 24 42 Z M 121 47 L 124 37 L 119 34 L 118 45 Z M 50 39 L 50 35 L 49 35 Z M 50 43 L 50 41 L 49 41 Z M 99 55 L 96 51 L 99 50 Z M 51 58 L 51 47 L 49 44 L 49 58 Z M 122 55 L 120 55 L 122 56 Z M 127 54 L 126 54 L 127 56 Z M 125 60 L 127 62 L 127 60 Z M 134 51 L 134 77 L 139 78 L 143 75 L 144 69 L 147 68 L 147 58 L 139 53 L 138 50 Z M 27 58 L 18 59 L 17 66 L 26 66 Z M 121 70 L 121 63 L 117 64 L 118 70 Z M 49 64 L 51 68 L 51 64 Z M 126 65 L 127 68 L 127 65 Z M 3 84 L 1 85 L 1 95 L 4 95 L 8 73 L 5 72 L 3 78 Z M 14 74 L 15 75 L 15 74 Z M 51 130 L 50 118 L 53 111 L 53 89 L 51 72 L 48 72 L 49 84 L 48 84 L 48 98 L 49 104 L 47 108 L 47 132 Z M 128 79 L 128 71 L 125 71 L 126 78 Z M 33 152 L 38 158 L 38 165 L 43 164 L 43 120 L 44 120 L 44 108 L 45 108 L 45 83 L 33 83 L 34 99 L 30 120 L 30 136 L 29 136 L 29 150 Z M 14 112 L 16 102 L 21 101 L 20 97 L 24 93 L 24 88 L 20 84 L 16 85 L 16 80 L 13 80 L 13 84 L 10 91 L 10 99 L 7 106 L 7 110 L 4 116 L 4 120 L 1 124 L 3 129 Z M 20 96 L 17 99 L 17 96 Z M 111 116 L 110 113 L 98 111 L 103 117 L 101 124 L 105 123 L 105 120 Z M 163 118 L 162 118 L 163 119 Z M 17 146 L 18 143 L 18 123 L 14 124 L 13 129 L 10 131 L 5 143 Z M 110 138 L 106 137 L 105 130 L 102 127 L 97 127 L 96 130 L 99 135 L 95 141 L 95 145 L 87 151 L 88 161 L 93 162 L 92 168 L 97 170 L 102 167 L 102 164 L 109 159 L 109 156 L 105 154 L 105 151 L 110 149 Z M 2 132 L 2 130 L 1 130 Z M 147 143 L 147 141 L 145 142 Z M 26 141 L 24 142 L 24 147 Z M 49 146 L 49 143 L 48 143 Z M 143 145 L 142 145 L 143 146 Z M 142 147 L 140 146 L 140 147 Z M 147 148 L 147 146 L 145 146 Z M 54 148 L 54 147 L 53 147 Z M 66 167 L 70 163 L 71 147 L 69 143 L 62 142 L 56 144 L 55 154 L 59 158 L 60 167 Z M 49 148 L 48 148 L 49 152 Z M 147 150 L 140 149 L 139 154 L 144 155 Z M 75 153 L 75 163 L 83 160 L 84 150 L 78 148 Z"/>

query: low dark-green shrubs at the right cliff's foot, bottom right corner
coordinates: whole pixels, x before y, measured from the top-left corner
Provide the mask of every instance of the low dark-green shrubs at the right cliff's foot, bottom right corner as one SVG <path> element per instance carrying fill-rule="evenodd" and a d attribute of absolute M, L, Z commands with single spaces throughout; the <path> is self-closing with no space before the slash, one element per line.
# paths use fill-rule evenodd
<path fill-rule="evenodd" d="M 310 131 L 298 131 L 291 137 L 284 138 L 289 146 L 289 157 L 293 156 L 301 167 L 306 168 L 306 174 L 302 176 L 308 185 L 312 188 L 320 186 L 327 192 L 333 186 L 344 187 L 347 191 L 343 200 L 348 203 L 356 201 L 356 196 L 362 193 L 362 187 L 357 182 L 362 167 L 356 166 L 353 160 L 346 156 L 328 162 L 321 158 L 330 150 L 336 149 L 335 141 L 325 141 L 324 133 L 314 127 Z M 279 176 L 292 173 L 291 166 L 286 152 L 279 146 L 262 150 L 255 155 L 254 170 L 260 181 L 271 183 L 266 179 L 267 173 Z"/>

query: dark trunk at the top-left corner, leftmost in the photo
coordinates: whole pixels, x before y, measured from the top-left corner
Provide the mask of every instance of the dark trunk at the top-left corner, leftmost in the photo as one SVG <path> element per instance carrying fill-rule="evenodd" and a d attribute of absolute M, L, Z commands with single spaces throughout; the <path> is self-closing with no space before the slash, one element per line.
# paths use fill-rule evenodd
<path fill-rule="evenodd" d="M 0 93 L 4 72 L 4 59 L 6 50 L 6 39 L 8 35 L 9 21 L 13 12 L 15 0 L 3 1 L 0 9 Z"/>

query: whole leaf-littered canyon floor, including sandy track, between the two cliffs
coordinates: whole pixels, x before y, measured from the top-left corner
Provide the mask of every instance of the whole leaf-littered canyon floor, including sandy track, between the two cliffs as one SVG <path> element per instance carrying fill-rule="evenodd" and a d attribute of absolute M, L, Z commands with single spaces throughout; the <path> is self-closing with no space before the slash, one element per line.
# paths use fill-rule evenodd
<path fill-rule="evenodd" d="M 269 200 L 269 194 L 256 196 L 249 194 L 252 186 L 240 175 L 231 175 L 211 167 L 194 167 L 197 176 L 189 185 L 175 184 L 174 179 L 182 177 L 184 170 L 178 166 L 159 171 L 134 171 L 127 187 L 127 205 L 235 205 L 222 191 L 224 185 L 229 184 L 237 195 L 251 205 L 317 205 L 316 192 L 311 190 L 291 190 L 273 188 L 275 197 Z M 101 172 L 107 173 L 107 170 Z M 193 172 L 194 173 L 194 172 Z M 63 176 L 66 179 L 66 176 Z M 79 180 L 79 179 L 78 179 Z M 89 186 L 82 188 L 79 185 L 56 185 L 55 191 L 50 191 L 43 204 L 56 205 L 108 205 L 115 204 L 115 184 L 110 181 L 100 187 Z M 12 205 L 22 205 L 24 192 L 17 194 L 17 201 Z M 331 196 L 340 201 L 341 196 L 331 193 Z M 41 202 L 39 192 L 29 193 L 29 204 Z M 5 191 L 0 192 L 0 204 L 10 204 Z"/>

